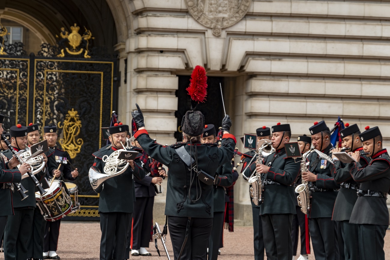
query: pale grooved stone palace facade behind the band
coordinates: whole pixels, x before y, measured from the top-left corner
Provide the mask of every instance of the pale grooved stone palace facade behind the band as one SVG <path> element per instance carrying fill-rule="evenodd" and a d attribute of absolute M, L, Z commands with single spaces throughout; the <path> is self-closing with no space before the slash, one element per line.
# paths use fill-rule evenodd
<path fill-rule="evenodd" d="M 177 75 L 203 65 L 208 76 L 225 77 L 225 105 L 238 137 L 282 122 L 291 124 L 294 140 L 309 134 L 314 121 L 332 127 L 340 116 L 360 129 L 379 126 L 389 147 L 390 2 L 236 2 L 243 1 L 250 2 L 245 16 L 216 36 L 188 9 L 188 2 L 211 0 L 107 0 L 122 42 L 120 70 L 128 78 L 119 90 L 125 121 L 138 103 L 151 136 L 176 141 Z M 241 175 L 235 202 L 236 219 L 250 225 Z"/>

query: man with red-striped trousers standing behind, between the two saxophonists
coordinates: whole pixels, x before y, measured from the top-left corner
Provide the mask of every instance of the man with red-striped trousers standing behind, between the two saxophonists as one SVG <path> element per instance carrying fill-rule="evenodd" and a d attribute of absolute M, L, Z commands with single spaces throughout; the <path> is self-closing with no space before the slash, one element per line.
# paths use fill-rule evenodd
<path fill-rule="evenodd" d="M 298 145 L 301 150 L 301 154 L 304 154 L 310 149 L 312 139 L 306 134 L 298 136 Z M 297 185 L 302 183 L 302 176 L 298 176 L 294 183 L 294 189 Z M 295 200 L 296 214 L 293 217 L 293 229 L 291 231 L 291 237 L 293 239 L 293 255 L 296 256 L 298 248 L 298 228 L 301 230 L 301 254 L 297 260 L 308 260 L 308 254 L 310 254 L 310 233 L 309 222 L 306 215 L 301 211 L 301 207 L 298 205 L 298 200 Z"/>

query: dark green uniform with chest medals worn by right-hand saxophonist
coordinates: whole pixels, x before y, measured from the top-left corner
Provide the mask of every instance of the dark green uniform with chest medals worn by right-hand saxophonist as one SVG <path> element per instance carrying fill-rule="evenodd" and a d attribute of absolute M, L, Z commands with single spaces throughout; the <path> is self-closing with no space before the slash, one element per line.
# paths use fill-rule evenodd
<path fill-rule="evenodd" d="M 322 152 L 329 155 L 332 145 Z M 309 230 L 312 238 L 313 251 L 316 259 L 337 259 L 339 247 L 337 244 L 337 226 L 332 221 L 333 206 L 340 187 L 332 176 L 333 164 L 312 152 L 308 156 L 308 170 L 317 175 L 315 182 L 309 183 L 312 198 L 310 199 Z"/>

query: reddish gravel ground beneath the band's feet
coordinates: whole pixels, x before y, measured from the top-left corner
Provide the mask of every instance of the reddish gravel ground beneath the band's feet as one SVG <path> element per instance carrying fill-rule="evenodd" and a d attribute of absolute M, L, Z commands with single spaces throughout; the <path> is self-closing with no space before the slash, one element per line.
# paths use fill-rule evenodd
<path fill-rule="evenodd" d="M 221 255 L 218 259 L 221 260 L 250 260 L 253 257 L 253 230 L 248 226 L 235 226 L 234 232 L 224 230 L 224 247 L 221 249 Z M 98 222 L 75 222 L 61 221 L 60 238 L 58 242 L 57 253 L 62 260 L 99 260 L 99 243 L 100 243 L 100 226 Z M 133 260 L 161 260 L 168 259 L 165 251 L 158 242 L 158 248 L 161 252 L 161 257 L 154 248 L 154 242 L 150 243 L 150 252 L 152 256 L 130 256 Z M 173 260 L 172 246 L 167 236 L 168 252 Z M 298 246 L 299 251 L 299 246 Z M 385 237 L 386 259 L 390 259 L 390 230 L 387 231 Z M 4 259 L 3 253 L 0 253 L 0 259 Z M 310 260 L 314 260 L 314 256 L 310 255 Z"/>

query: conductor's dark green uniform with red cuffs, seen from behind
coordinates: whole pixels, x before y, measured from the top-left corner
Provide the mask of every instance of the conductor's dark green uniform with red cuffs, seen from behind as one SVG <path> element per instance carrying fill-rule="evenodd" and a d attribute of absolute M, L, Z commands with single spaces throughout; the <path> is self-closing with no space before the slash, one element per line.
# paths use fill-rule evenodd
<path fill-rule="evenodd" d="M 203 127 L 199 135 L 202 129 Z M 176 149 L 184 147 L 197 159 L 198 169 L 214 174 L 219 166 L 230 163 L 236 143 L 234 136 L 224 134 L 220 148 L 215 144 L 201 143 L 179 143 L 163 147 L 155 143 L 146 130 L 139 130 L 134 136 L 150 157 L 169 168 L 165 215 L 168 216 L 174 258 L 179 256 L 183 242 L 186 241 L 181 259 L 204 259 L 214 212 L 213 186 L 200 182 L 177 154 Z M 190 231 L 186 234 L 187 227 Z M 189 236 L 187 240 L 186 235 Z"/>

